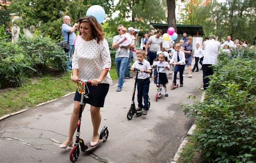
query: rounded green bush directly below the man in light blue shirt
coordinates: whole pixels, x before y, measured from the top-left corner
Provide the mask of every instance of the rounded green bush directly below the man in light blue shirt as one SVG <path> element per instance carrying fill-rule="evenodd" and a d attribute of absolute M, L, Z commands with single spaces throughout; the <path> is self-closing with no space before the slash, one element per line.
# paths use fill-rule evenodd
<path fill-rule="evenodd" d="M 49 66 L 60 71 L 65 71 L 68 67 L 66 53 L 50 37 L 42 38 L 38 33 L 31 38 L 20 36 L 18 44 L 26 47 L 25 54 L 37 73 L 43 72 Z"/>

